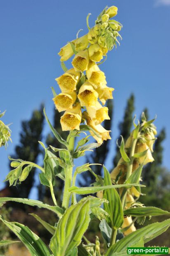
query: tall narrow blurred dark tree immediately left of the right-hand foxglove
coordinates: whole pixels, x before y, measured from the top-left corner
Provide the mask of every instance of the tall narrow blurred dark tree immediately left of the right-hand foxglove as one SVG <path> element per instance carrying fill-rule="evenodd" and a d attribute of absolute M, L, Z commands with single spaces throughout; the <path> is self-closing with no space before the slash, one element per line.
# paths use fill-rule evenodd
<path fill-rule="evenodd" d="M 124 141 L 127 140 L 127 138 L 130 135 L 131 128 L 132 128 L 132 121 L 133 121 L 133 111 L 135 109 L 134 107 L 134 101 L 135 97 L 134 95 L 130 95 L 129 99 L 127 100 L 127 105 L 125 108 L 125 114 L 123 117 L 123 121 L 119 124 L 119 130 L 120 130 L 120 135 L 123 136 Z M 118 137 L 118 144 L 120 145 L 120 135 Z M 119 148 L 116 146 L 116 154 L 115 157 L 113 158 L 113 168 L 117 166 L 118 161 L 120 159 L 120 151 Z"/>

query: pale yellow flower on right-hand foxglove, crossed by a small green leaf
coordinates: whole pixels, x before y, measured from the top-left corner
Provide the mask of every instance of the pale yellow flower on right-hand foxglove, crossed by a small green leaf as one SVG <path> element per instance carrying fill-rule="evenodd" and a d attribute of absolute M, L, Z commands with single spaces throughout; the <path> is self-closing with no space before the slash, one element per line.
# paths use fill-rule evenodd
<path fill-rule="evenodd" d="M 135 148 L 135 153 L 143 152 L 146 149 L 148 149 L 148 150 L 147 150 L 145 156 L 138 158 L 139 164 L 145 165 L 147 163 L 154 161 L 153 156 L 151 154 L 151 150 L 149 149 L 149 147 L 146 143 L 137 143 L 136 148 Z"/>

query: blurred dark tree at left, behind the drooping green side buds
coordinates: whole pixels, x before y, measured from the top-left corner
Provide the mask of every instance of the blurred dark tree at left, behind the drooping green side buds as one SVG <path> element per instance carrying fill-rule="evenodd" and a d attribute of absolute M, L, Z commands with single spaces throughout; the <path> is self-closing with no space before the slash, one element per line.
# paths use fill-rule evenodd
<path fill-rule="evenodd" d="M 38 155 L 40 154 L 40 145 L 38 140 L 42 138 L 43 131 L 43 105 L 39 110 L 34 110 L 29 121 L 22 121 L 22 131 L 20 133 L 20 144 L 15 147 L 15 153 L 12 158 L 23 159 L 36 163 Z M 11 168 L 11 167 L 10 167 Z M 16 187 L 9 187 L 12 197 L 28 198 L 31 188 L 33 187 L 35 176 L 35 169 L 33 169 L 28 178 Z M 7 187 L 9 185 L 7 184 Z"/>

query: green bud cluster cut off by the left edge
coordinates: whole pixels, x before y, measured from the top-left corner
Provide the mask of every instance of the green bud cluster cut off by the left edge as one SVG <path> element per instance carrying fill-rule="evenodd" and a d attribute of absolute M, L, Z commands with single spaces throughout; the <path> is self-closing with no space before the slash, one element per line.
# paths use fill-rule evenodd
<path fill-rule="evenodd" d="M 5 114 L 5 112 L 0 114 L 0 118 L 2 116 L 4 116 L 4 114 Z M 8 143 L 7 143 L 8 140 L 10 140 L 12 142 L 10 136 L 11 136 L 11 130 L 9 129 L 9 127 L 7 125 L 5 125 L 5 123 L 3 123 L 0 120 L 0 147 L 8 145 Z"/>

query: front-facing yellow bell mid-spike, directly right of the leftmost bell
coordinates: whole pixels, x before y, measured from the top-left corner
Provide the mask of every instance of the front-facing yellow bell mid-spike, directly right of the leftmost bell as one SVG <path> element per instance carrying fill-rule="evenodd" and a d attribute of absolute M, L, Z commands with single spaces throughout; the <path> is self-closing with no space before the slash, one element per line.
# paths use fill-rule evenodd
<path fill-rule="evenodd" d="M 95 106 L 98 99 L 98 93 L 96 92 L 96 90 L 94 90 L 92 84 L 86 81 L 80 87 L 80 90 L 78 92 L 78 99 L 80 100 L 80 104 L 82 107 Z"/>

